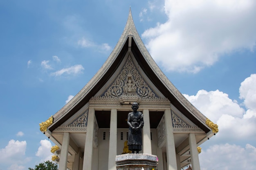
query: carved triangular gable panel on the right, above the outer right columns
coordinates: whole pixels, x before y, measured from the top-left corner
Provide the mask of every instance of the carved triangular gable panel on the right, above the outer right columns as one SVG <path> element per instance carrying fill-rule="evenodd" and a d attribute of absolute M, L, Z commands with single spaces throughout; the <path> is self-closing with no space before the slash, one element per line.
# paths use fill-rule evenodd
<path fill-rule="evenodd" d="M 191 126 L 171 110 L 173 132 L 202 131 L 198 126 Z"/>

